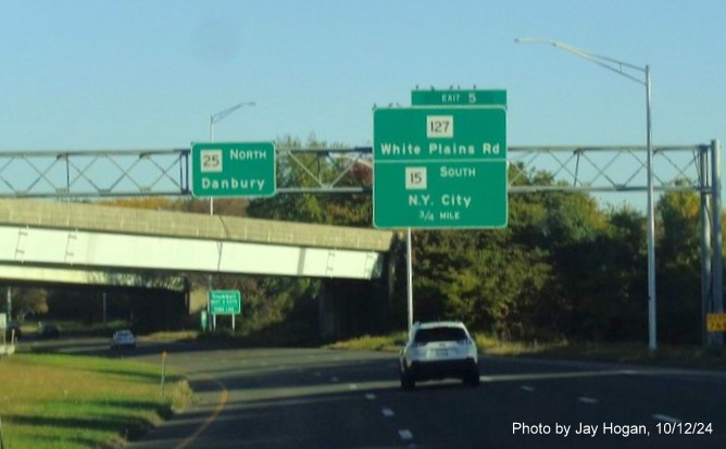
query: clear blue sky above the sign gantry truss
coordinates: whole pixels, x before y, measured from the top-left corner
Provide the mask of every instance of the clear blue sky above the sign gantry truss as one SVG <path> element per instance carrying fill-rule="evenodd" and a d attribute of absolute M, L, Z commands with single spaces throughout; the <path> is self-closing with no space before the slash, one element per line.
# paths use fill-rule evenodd
<path fill-rule="evenodd" d="M 650 64 L 655 145 L 726 139 L 721 0 L 0 0 L 0 151 L 291 135 L 370 145 L 415 86 L 509 92 L 508 139 L 644 145 L 644 89 L 564 51 Z"/>

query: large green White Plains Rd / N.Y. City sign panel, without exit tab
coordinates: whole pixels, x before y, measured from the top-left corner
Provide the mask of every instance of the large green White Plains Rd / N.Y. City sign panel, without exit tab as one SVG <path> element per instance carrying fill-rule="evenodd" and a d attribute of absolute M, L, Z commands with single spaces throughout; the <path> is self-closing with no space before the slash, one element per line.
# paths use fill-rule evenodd
<path fill-rule="evenodd" d="M 373 140 L 374 226 L 506 226 L 503 105 L 376 109 Z"/>

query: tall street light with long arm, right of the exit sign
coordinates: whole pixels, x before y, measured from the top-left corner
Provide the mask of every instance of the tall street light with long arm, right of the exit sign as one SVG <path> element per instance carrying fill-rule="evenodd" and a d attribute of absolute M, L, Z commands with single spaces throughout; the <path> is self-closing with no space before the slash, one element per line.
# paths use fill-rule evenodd
<path fill-rule="evenodd" d="M 516 43 L 543 43 L 567 51 L 587 61 L 615 72 L 618 75 L 638 83 L 646 87 L 646 126 L 647 126 L 647 172 L 648 172 L 648 348 L 651 351 L 658 349 L 656 315 L 655 315 L 655 217 L 653 212 L 653 132 L 651 125 L 651 79 L 650 66 L 644 67 L 628 64 L 601 54 L 596 54 L 564 42 L 546 39 L 517 38 Z M 635 71 L 642 74 L 642 78 L 634 76 L 626 71 Z"/>

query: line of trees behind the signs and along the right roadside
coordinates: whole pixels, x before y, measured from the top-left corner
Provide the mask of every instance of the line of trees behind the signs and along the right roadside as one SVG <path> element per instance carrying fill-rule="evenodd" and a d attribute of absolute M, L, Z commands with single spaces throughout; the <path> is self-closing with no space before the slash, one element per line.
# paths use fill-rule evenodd
<path fill-rule="evenodd" d="M 289 139 L 281 144 L 299 146 Z M 281 172 L 302 176 L 295 167 Z M 370 169 L 361 166 L 350 177 L 351 185 L 370 185 Z M 530 172 L 517 177 L 517 184 L 558 182 L 547 172 Z M 667 192 L 656 203 L 658 325 L 663 342 L 701 338 L 699 201 L 694 192 Z M 277 196 L 251 201 L 247 213 L 371 227 L 372 198 Z M 512 339 L 648 340 L 644 212 L 627 204 L 603 207 L 584 192 L 547 191 L 510 195 L 509 214 L 503 229 L 413 233 L 416 320 L 463 320 Z M 389 322 L 398 328 L 405 323 L 400 255 Z"/>

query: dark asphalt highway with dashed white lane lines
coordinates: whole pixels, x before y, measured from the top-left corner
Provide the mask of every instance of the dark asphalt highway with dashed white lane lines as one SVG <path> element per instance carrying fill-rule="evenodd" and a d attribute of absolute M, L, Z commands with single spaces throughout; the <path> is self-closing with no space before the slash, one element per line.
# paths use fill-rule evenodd
<path fill-rule="evenodd" d="M 478 388 L 403 391 L 396 354 L 200 349 L 167 358 L 193 406 L 130 449 L 726 447 L 724 373 L 483 358 Z"/>

